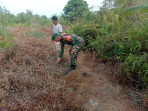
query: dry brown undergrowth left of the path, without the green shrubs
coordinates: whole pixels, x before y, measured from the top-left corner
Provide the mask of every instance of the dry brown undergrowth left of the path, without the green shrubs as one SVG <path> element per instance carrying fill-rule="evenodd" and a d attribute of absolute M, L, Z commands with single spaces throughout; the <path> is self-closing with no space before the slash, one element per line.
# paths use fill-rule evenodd
<path fill-rule="evenodd" d="M 14 29 L 18 44 L 4 50 L 0 59 L 0 110 L 84 110 L 88 86 L 81 83 L 81 75 L 61 76 L 64 64 L 55 63 L 57 53 L 49 34 L 24 37 L 20 32 L 26 33 L 25 27 L 16 28 L 17 33 Z"/>

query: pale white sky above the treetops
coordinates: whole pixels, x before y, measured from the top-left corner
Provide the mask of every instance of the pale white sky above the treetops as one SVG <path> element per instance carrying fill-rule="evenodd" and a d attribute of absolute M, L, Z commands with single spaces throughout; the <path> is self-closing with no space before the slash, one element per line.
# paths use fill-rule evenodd
<path fill-rule="evenodd" d="M 63 8 L 69 0 L 0 0 L 0 6 L 5 7 L 13 14 L 26 12 L 31 10 L 33 14 L 46 15 L 60 15 Z M 85 0 L 89 7 L 94 7 L 93 10 L 99 10 L 103 0 Z"/>

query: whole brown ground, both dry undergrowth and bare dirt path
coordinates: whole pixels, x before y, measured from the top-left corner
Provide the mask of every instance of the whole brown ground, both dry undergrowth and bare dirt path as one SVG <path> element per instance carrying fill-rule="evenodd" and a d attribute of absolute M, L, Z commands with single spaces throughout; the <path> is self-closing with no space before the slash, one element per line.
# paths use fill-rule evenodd
<path fill-rule="evenodd" d="M 38 32 L 45 36 L 32 35 Z M 117 81 L 111 82 L 111 70 L 93 62 L 89 51 L 80 53 L 78 68 L 63 76 L 70 62 L 68 47 L 62 63 L 56 64 L 51 32 L 49 25 L 9 27 L 16 45 L 2 50 L 0 56 L 0 110 L 145 111 L 145 94 L 136 93 L 130 100 L 126 93 L 135 92 L 122 91 Z"/>

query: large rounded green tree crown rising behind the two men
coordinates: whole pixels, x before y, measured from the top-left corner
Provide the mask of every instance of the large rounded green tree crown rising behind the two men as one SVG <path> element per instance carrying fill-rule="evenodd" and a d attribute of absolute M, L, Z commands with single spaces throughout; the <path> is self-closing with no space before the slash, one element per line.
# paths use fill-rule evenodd
<path fill-rule="evenodd" d="M 63 9 L 64 16 L 70 21 L 74 21 L 74 17 L 82 17 L 89 12 L 88 4 L 84 0 L 70 0 Z"/>

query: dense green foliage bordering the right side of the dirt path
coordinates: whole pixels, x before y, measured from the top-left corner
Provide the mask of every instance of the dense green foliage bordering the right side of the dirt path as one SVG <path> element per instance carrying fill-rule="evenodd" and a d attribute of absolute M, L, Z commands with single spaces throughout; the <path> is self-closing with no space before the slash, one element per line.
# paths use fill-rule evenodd
<path fill-rule="evenodd" d="M 146 0 L 105 0 L 101 9 L 80 18 L 67 32 L 84 37 L 86 48 L 120 64 L 137 88 L 148 87 L 148 5 Z M 121 76 L 121 77 L 122 77 Z"/>

